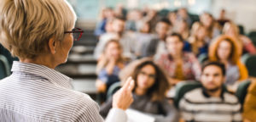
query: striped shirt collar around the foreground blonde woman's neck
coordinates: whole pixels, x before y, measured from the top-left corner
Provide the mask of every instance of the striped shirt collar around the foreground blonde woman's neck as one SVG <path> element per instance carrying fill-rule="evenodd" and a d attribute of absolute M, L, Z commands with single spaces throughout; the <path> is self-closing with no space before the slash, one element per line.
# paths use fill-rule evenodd
<path fill-rule="evenodd" d="M 11 71 L 38 75 L 45 79 L 48 79 L 52 84 L 56 86 L 62 86 L 69 89 L 72 88 L 71 78 L 69 78 L 67 75 L 62 75 L 60 72 L 57 72 L 55 69 L 50 69 L 44 65 L 20 63 L 18 61 L 14 61 Z"/>

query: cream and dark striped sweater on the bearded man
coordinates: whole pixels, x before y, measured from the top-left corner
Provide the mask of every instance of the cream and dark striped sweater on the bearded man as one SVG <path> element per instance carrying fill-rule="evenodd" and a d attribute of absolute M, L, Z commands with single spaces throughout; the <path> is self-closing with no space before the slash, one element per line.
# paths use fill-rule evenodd
<path fill-rule="evenodd" d="M 202 88 L 197 88 L 185 94 L 179 108 L 185 121 L 241 121 L 241 105 L 236 96 L 228 92 L 223 92 L 221 97 L 210 97 Z"/>

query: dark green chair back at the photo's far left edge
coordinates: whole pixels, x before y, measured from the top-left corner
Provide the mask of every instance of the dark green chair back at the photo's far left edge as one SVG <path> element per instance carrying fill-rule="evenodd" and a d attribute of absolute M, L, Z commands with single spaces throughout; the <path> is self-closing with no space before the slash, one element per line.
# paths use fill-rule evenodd
<path fill-rule="evenodd" d="M 0 80 L 10 75 L 7 58 L 0 54 Z"/>

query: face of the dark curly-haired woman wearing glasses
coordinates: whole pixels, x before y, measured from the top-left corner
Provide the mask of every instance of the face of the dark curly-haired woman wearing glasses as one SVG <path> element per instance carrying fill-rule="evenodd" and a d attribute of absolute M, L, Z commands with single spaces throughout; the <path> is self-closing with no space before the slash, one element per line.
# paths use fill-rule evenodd
<path fill-rule="evenodd" d="M 137 88 L 147 91 L 148 88 L 154 85 L 155 69 L 152 65 L 145 65 L 137 75 Z"/>

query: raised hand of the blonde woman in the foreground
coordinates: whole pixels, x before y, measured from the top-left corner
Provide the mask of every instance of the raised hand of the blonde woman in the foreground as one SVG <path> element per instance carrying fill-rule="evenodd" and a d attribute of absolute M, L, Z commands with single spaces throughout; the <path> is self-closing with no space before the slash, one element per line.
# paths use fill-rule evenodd
<path fill-rule="evenodd" d="M 126 80 L 125 85 L 113 95 L 113 108 L 125 110 L 130 107 L 131 103 L 133 102 L 131 92 L 134 84 L 134 80 L 132 80 L 131 77 Z"/>

